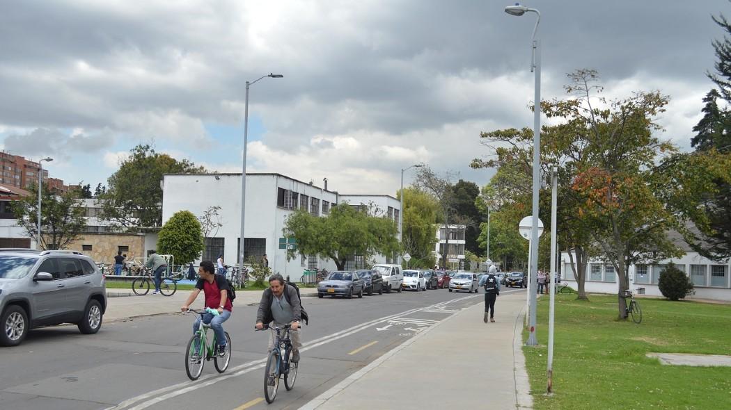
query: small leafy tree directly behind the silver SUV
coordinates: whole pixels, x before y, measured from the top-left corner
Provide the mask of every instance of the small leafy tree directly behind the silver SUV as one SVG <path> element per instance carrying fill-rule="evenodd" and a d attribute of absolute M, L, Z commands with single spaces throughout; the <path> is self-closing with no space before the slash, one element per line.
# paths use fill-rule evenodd
<path fill-rule="evenodd" d="M 29 196 L 12 204 L 18 225 L 25 228 L 42 250 L 61 250 L 78 238 L 86 227 L 85 210 L 77 201 L 78 192 L 58 195 L 48 185 L 41 192 L 41 237 L 38 236 L 38 185 L 29 187 Z"/>

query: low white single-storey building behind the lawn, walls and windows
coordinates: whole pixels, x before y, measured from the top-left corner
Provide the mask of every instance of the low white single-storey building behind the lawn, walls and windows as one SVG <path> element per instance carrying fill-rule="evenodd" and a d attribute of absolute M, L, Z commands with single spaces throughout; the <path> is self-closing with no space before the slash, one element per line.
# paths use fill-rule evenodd
<path fill-rule="evenodd" d="M 686 299 L 711 299 L 716 301 L 731 301 L 731 259 L 723 262 L 716 262 L 704 258 L 697 252 L 692 251 L 686 244 L 676 242 L 686 252 L 682 258 L 662 260 L 655 264 L 637 264 L 629 267 L 629 289 L 635 293 L 645 295 L 662 296 L 657 286 L 660 272 L 672 262 L 686 275 L 689 275 L 694 285 L 694 295 Z M 574 260 L 576 258 L 574 257 Z M 561 254 L 561 281 L 567 282 L 570 287 L 576 289 L 577 282 L 571 268 L 569 255 Z M 618 276 L 614 266 L 602 263 L 599 260 L 591 260 L 586 267 L 586 292 L 590 293 L 614 293 L 619 290 Z"/>

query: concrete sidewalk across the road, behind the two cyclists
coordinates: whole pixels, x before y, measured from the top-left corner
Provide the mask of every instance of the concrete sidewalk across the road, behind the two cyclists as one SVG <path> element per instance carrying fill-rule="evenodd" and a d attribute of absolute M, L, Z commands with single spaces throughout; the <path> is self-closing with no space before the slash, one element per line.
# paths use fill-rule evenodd
<path fill-rule="evenodd" d="M 192 290 L 178 290 L 175 295 L 163 296 L 153 295 L 152 291 L 144 296 L 137 296 L 132 290 L 107 289 L 107 310 L 104 320 L 107 322 L 124 320 L 129 317 L 151 316 L 154 314 L 167 314 L 181 311 Z M 131 296 L 130 296 L 131 295 Z M 300 287 L 302 297 L 317 296 L 317 288 Z M 262 290 L 237 290 L 236 299 L 233 301 L 236 306 L 245 306 L 252 303 L 259 303 L 262 298 Z M 193 302 L 192 308 L 201 309 L 203 306 L 203 295 L 198 295 Z"/>

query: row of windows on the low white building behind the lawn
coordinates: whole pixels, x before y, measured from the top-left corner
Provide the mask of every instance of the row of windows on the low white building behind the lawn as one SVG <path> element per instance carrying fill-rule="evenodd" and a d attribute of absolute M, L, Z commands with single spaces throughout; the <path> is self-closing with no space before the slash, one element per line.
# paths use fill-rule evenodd
<path fill-rule="evenodd" d="M 703 265 L 690 264 L 689 277 L 693 285 L 704 287 L 729 287 L 729 266 L 728 265 Z M 660 273 L 667 265 L 635 265 L 635 283 L 644 285 L 657 285 Z M 688 274 L 686 265 L 675 265 L 676 268 Z M 589 263 L 587 280 L 593 282 L 616 282 L 617 275 L 614 266 L 602 263 Z M 564 266 L 564 277 L 573 279 L 574 274 L 570 263 Z"/>

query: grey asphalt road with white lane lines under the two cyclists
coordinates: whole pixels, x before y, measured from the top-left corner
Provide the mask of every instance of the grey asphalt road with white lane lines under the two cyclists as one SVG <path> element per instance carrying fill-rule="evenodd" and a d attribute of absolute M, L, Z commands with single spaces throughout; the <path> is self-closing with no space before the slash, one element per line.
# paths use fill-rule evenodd
<path fill-rule="evenodd" d="M 105 323 L 91 336 L 71 325 L 32 330 L 20 347 L 0 349 L 0 409 L 298 409 L 482 298 L 481 292 L 447 290 L 304 298 L 311 320 L 302 329 L 295 388 L 287 391 L 281 383 L 269 406 L 263 398 L 268 333 L 254 332 L 257 306 L 235 306 L 224 325 L 233 344 L 228 370 L 218 374 L 213 362 L 206 362 L 195 382 L 184 367 L 193 314 Z M 406 389 L 407 378 L 385 380 L 384 388 Z"/>

